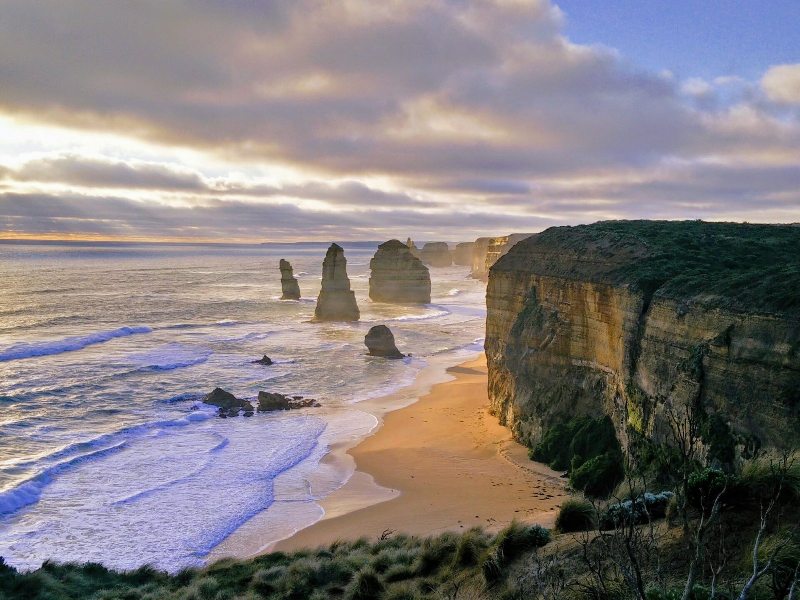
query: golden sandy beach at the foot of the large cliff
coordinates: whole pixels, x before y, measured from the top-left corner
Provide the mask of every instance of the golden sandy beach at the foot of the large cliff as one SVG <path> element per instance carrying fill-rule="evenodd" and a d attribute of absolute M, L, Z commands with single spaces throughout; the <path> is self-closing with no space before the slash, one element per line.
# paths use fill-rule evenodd
<path fill-rule="evenodd" d="M 378 538 L 386 530 L 499 530 L 515 518 L 552 526 L 565 480 L 531 462 L 486 412 L 486 358 L 448 372 L 454 381 L 386 414 L 375 434 L 347 451 L 358 470 L 319 502 L 326 511 L 321 521 L 266 551 Z M 380 412 L 381 401 L 370 402 Z"/>

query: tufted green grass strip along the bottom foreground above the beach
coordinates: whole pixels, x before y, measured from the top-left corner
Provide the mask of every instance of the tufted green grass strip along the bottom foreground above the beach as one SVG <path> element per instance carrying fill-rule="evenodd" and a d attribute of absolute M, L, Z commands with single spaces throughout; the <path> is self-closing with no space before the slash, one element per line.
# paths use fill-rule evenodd
<path fill-rule="evenodd" d="M 30 573 L 0 566 L 0 598 L 482 598 L 487 590 L 493 590 L 493 596 L 502 594 L 506 570 L 519 556 L 549 541 L 549 532 L 538 526 L 512 523 L 497 535 L 473 529 L 432 538 L 396 535 L 376 542 L 362 538 L 293 554 L 224 560 L 176 575 L 147 566 L 118 572 L 97 563 L 46 562 Z"/>

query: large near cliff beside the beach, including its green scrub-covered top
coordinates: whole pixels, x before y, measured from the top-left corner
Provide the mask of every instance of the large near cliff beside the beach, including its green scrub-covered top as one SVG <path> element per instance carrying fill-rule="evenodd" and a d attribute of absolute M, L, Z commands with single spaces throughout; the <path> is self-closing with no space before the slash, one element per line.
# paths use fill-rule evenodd
<path fill-rule="evenodd" d="M 623 448 L 698 415 L 706 458 L 800 434 L 800 227 L 601 222 L 491 268 L 490 411 L 533 445 L 609 415 Z M 692 412 L 696 409 L 696 412 Z"/>

